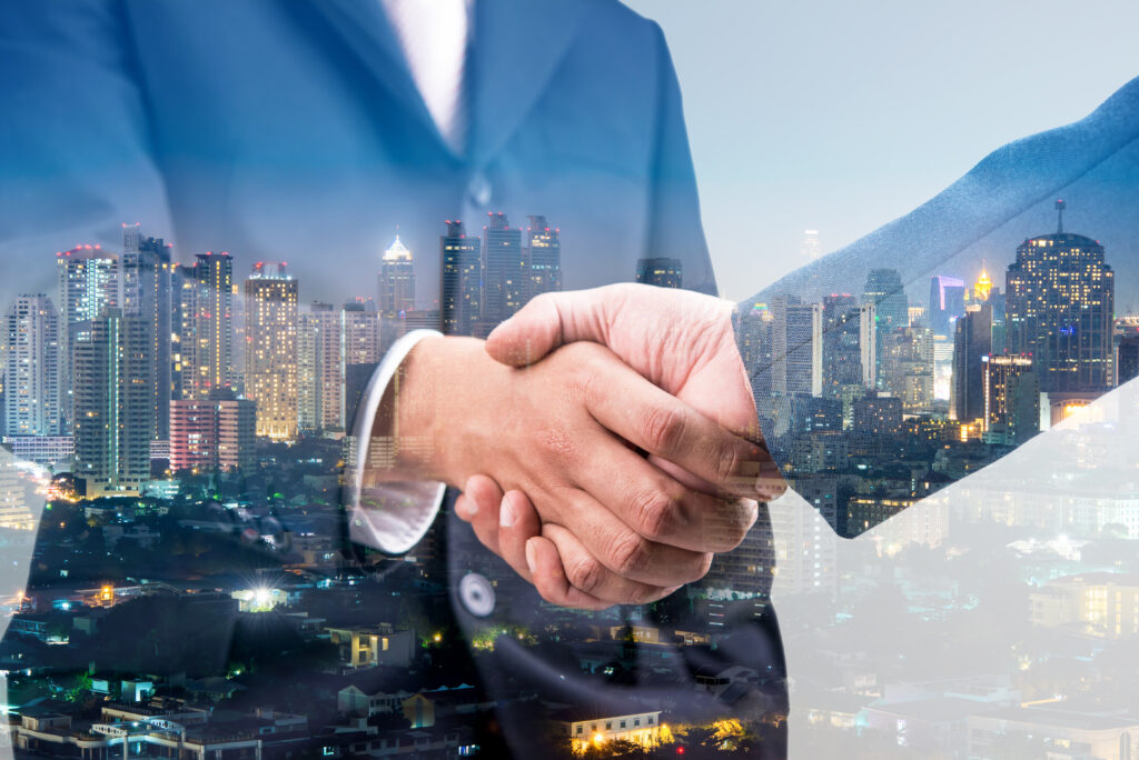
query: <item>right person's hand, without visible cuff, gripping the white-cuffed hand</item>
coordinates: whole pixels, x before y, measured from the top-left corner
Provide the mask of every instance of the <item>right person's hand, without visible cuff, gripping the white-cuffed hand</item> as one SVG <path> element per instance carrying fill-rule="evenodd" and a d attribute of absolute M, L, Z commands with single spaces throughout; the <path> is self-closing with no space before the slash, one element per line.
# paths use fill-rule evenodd
<path fill-rule="evenodd" d="M 486 350 L 505 364 L 523 366 L 567 342 L 601 342 L 663 390 L 726 428 L 762 440 L 731 313 L 726 300 L 647 286 L 548 294 L 491 333 Z M 716 490 L 682 463 L 649 459 L 679 481 Z M 786 485 L 770 457 L 751 465 L 747 482 L 760 498 L 782 495 Z M 509 486 L 500 487 L 492 478 L 473 477 L 457 504 L 459 517 L 470 521 L 480 539 L 530 578 L 547 601 L 563 603 L 558 600 L 573 593 L 574 572 L 548 540 L 548 534 L 556 531 L 541 526 L 528 493 L 503 494 L 505 488 Z"/>

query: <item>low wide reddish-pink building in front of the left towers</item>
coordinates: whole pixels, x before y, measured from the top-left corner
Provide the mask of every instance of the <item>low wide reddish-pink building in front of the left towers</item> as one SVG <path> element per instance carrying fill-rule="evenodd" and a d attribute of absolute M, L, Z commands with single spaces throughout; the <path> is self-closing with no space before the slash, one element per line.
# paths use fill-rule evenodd
<path fill-rule="evenodd" d="M 175 472 L 249 468 L 255 436 L 256 404 L 231 390 L 170 404 L 170 468 Z"/>

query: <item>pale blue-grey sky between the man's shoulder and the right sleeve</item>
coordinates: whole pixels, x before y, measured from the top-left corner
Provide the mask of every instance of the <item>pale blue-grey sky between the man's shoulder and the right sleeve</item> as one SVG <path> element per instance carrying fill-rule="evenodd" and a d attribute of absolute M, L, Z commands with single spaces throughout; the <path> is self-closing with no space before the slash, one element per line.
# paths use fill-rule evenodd
<path fill-rule="evenodd" d="M 669 40 L 716 280 L 737 300 L 802 262 L 805 229 L 836 250 L 1139 75 L 1133 1 L 628 5 Z"/>

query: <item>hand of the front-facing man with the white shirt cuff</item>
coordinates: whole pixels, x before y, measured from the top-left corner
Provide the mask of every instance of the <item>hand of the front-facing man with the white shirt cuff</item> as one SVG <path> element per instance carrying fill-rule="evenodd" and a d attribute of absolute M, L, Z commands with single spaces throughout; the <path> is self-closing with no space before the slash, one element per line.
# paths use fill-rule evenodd
<path fill-rule="evenodd" d="M 558 348 L 519 370 L 494 362 L 482 341 L 433 338 L 402 369 L 399 391 L 377 416 L 398 441 L 392 477 L 464 485 L 486 474 L 526 494 L 568 576 L 551 598 L 558 604 L 659 598 L 703 577 L 712 553 L 736 546 L 756 518 L 754 503 L 688 488 L 634 448 L 695 472 L 716 493 L 752 496 L 746 473 L 762 449 L 601 346 Z"/>

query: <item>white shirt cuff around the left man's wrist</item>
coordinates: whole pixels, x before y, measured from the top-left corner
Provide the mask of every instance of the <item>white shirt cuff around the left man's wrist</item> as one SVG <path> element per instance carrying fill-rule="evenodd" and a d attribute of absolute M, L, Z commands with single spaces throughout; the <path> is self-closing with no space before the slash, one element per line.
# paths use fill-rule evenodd
<path fill-rule="evenodd" d="M 349 538 L 384 554 L 405 554 L 419 543 L 435 521 L 446 490 L 442 482 L 382 482 L 368 487 L 363 484 L 369 453 L 378 443 L 371 429 L 387 386 L 420 340 L 440 334 L 435 330 L 412 330 L 395 341 L 368 381 L 352 424 L 355 454 L 346 478 Z"/>

